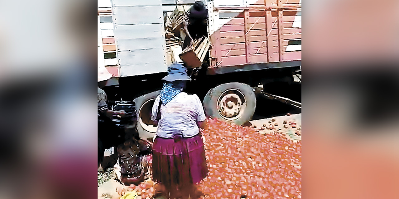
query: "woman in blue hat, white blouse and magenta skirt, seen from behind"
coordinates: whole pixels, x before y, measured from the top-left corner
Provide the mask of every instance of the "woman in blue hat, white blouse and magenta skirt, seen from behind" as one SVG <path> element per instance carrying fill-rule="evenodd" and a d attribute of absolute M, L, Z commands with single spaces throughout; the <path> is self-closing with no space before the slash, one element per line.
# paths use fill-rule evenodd
<path fill-rule="evenodd" d="M 182 64 L 172 64 L 161 94 L 152 107 L 152 121 L 158 123 L 153 144 L 152 177 L 174 199 L 195 198 L 195 184 L 207 176 L 205 149 L 199 128 L 205 113 L 197 95 L 183 92 L 191 80 Z"/>

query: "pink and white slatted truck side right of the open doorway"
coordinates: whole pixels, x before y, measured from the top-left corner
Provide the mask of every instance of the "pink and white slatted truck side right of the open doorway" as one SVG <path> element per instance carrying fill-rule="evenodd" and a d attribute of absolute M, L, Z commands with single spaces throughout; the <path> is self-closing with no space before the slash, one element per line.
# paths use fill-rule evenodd
<path fill-rule="evenodd" d="M 258 0 L 247 6 L 208 5 L 210 71 L 231 66 L 251 70 L 254 64 L 258 65 L 255 68 L 259 64 L 266 68 L 300 65 L 300 0 Z M 212 30 L 212 26 L 217 27 Z"/>

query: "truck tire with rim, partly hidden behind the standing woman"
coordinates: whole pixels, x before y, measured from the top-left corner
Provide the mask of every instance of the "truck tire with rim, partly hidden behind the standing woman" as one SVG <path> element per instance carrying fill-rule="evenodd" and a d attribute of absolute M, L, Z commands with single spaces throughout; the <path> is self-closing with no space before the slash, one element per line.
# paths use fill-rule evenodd
<path fill-rule="evenodd" d="M 136 99 L 136 113 L 137 113 L 137 131 L 140 139 L 150 140 L 156 134 L 157 126 L 154 126 L 151 121 L 151 109 L 154 105 L 155 98 L 161 93 L 160 90 L 142 95 Z"/>

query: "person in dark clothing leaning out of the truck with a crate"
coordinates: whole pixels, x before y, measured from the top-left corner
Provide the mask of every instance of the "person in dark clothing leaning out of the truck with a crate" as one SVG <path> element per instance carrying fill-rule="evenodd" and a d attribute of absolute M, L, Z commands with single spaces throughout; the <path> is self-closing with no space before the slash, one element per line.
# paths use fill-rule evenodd
<path fill-rule="evenodd" d="M 183 49 L 194 42 L 194 39 L 208 36 L 208 9 L 203 2 L 196 1 L 194 6 L 184 13 L 183 27 L 188 37 L 185 37 Z"/>

